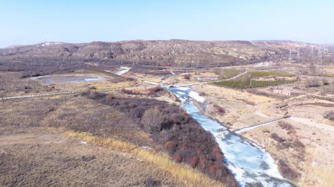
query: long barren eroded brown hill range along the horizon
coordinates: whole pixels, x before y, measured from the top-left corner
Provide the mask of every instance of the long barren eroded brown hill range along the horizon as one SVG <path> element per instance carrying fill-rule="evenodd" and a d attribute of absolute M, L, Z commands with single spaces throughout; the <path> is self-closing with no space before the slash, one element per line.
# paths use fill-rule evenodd
<path fill-rule="evenodd" d="M 291 40 L 191 41 L 131 40 L 91 43 L 43 42 L 0 49 L 2 58 L 72 58 L 152 61 L 155 63 L 247 63 L 288 54 L 296 47 L 307 47 Z"/>

